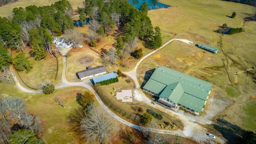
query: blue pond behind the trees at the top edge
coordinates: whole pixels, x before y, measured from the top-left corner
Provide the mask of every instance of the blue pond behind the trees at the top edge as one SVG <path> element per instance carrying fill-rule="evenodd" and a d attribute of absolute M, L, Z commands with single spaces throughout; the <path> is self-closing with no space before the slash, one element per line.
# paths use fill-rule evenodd
<path fill-rule="evenodd" d="M 139 9 L 140 6 L 146 2 L 148 4 L 148 10 L 155 10 L 158 8 L 168 8 L 166 4 L 157 2 L 157 0 L 128 0 L 129 4 L 132 4 L 135 8 Z"/>

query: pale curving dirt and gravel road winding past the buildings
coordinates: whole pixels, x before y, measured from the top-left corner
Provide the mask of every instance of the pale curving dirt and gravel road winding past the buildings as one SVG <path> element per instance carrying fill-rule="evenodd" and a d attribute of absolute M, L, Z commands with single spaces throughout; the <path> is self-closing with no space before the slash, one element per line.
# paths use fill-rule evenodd
<path fill-rule="evenodd" d="M 152 105 L 150 104 L 151 100 L 146 97 L 144 95 L 144 93 L 142 92 L 142 90 L 140 89 L 140 84 L 137 81 L 137 77 L 136 77 L 136 70 L 138 68 L 138 65 L 148 56 L 150 56 L 151 54 L 154 54 L 155 52 L 157 52 L 158 50 L 160 50 L 161 48 L 163 48 L 164 46 L 166 46 L 167 44 L 169 44 L 170 42 L 172 42 L 173 40 L 179 40 L 182 42 L 185 42 L 187 44 L 189 44 L 188 42 L 190 42 L 189 40 L 184 40 L 184 39 L 172 39 L 170 41 L 168 41 L 166 44 L 164 44 L 163 46 L 161 46 L 160 48 L 158 48 L 157 50 L 147 54 L 146 56 L 144 56 L 135 66 L 135 68 L 133 70 L 131 70 L 130 72 L 124 72 L 125 74 L 127 74 L 128 76 L 130 76 L 130 78 L 132 78 L 132 80 L 134 80 L 134 83 L 136 85 L 136 89 L 134 90 L 134 92 L 140 96 L 142 98 L 142 102 L 151 105 L 154 108 L 157 108 L 158 110 L 161 110 L 163 112 L 166 112 L 168 114 L 170 114 L 171 116 L 174 116 L 178 119 L 181 120 L 181 122 L 185 125 L 184 130 L 163 130 L 163 129 L 154 129 L 162 134 L 171 134 L 171 135 L 176 135 L 176 136 L 182 136 L 182 137 L 186 137 L 186 138 L 192 138 L 194 140 L 196 140 L 199 143 L 204 143 L 204 142 L 210 142 L 210 143 L 224 143 L 224 140 L 220 139 L 220 138 L 216 138 L 214 141 L 212 138 L 208 137 L 206 135 L 206 131 L 204 129 L 204 127 L 202 127 L 197 121 L 194 120 L 194 118 L 189 118 L 188 116 L 185 116 L 184 114 L 180 114 L 180 113 L 176 113 L 173 112 L 172 110 L 166 109 L 158 104 Z M 62 82 L 56 86 L 55 88 L 64 88 L 64 87 L 69 87 L 69 86 L 83 86 L 84 88 L 88 88 L 90 91 L 92 91 L 95 96 L 96 99 L 98 100 L 98 102 L 100 103 L 100 105 L 104 108 L 104 110 L 106 110 L 111 116 L 113 116 L 116 120 L 122 122 L 123 124 L 126 124 L 127 126 L 130 126 L 132 128 L 136 128 L 136 129 L 145 129 L 145 127 L 140 127 L 136 124 L 132 124 L 122 118 L 120 118 L 119 116 L 117 116 L 114 112 L 112 112 L 100 99 L 100 97 L 98 96 L 98 94 L 94 91 L 94 89 L 91 86 L 91 82 L 90 80 L 85 80 L 83 82 L 68 82 L 65 78 L 66 75 L 66 56 L 63 56 L 63 70 L 62 70 Z M 40 93 L 42 91 L 40 90 L 29 90 L 24 88 L 19 81 L 17 80 L 17 77 L 12 69 L 12 67 L 10 67 L 11 71 L 12 71 L 12 75 L 14 78 L 14 81 L 16 83 L 16 85 L 18 86 L 18 88 L 24 92 L 28 92 L 28 93 Z M 202 123 L 203 124 L 203 123 Z"/>

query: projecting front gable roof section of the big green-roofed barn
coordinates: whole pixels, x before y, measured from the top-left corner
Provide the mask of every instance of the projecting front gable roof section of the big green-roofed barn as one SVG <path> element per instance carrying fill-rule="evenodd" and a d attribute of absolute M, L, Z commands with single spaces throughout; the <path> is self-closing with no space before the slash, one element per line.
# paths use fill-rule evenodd
<path fill-rule="evenodd" d="M 172 100 L 172 102 L 178 104 L 183 93 L 184 90 L 180 85 L 180 82 L 176 82 L 166 86 L 166 88 L 164 88 L 164 91 L 160 94 L 159 97 L 168 98 L 169 100 Z"/>

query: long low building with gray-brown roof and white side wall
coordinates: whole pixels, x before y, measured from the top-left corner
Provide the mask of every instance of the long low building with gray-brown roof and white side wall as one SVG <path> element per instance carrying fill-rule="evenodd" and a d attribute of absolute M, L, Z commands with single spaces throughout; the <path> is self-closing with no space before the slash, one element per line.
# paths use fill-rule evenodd
<path fill-rule="evenodd" d="M 76 72 L 76 76 L 80 80 L 86 79 L 86 78 L 92 78 L 94 76 L 100 76 L 102 74 L 106 74 L 107 70 L 105 66 L 97 66 L 95 68 L 92 68 L 92 66 L 86 67 L 86 70 L 82 70 L 80 72 Z"/>

